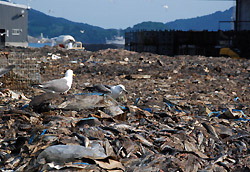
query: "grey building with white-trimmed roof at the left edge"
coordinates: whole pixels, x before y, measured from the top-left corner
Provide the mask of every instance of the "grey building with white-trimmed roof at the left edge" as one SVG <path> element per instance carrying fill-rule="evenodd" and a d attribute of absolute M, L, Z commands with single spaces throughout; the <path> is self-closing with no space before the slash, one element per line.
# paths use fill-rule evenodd
<path fill-rule="evenodd" d="M 28 46 L 28 9 L 0 1 L 0 47 Z"/>

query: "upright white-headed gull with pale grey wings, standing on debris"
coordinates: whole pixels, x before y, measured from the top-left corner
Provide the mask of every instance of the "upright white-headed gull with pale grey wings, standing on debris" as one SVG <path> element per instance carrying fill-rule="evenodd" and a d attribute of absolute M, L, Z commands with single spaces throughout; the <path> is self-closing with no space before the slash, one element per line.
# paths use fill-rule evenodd
<path fill-rule="evenodd" d="M 38 88 L 52 93 L 67 93 L 73 82 L 73 70 L 66 71 L 65 76 L 38 85 Z"/>

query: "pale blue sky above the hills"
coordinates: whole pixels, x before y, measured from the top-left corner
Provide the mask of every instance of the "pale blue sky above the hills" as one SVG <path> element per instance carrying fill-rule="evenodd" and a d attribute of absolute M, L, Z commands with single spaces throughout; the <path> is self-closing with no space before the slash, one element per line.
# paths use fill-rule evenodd
<path fill-rule="evenodd" d="M 213 0 L 11 0 L 71 21 L 125 29 L 143 21 L 169 22 L 225 11 L 234 1 Z"/>

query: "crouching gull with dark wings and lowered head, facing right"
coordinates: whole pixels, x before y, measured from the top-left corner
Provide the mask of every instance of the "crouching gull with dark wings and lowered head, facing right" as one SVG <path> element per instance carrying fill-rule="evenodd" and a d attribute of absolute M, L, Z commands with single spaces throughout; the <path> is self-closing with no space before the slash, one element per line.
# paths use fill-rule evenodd
<path fill-rule="evenodd" d="M 122 94 L 123 91 L 127 93 L 125 86 L 121 84 L 114 86 L 97 84 L 94 85 L 93 87 L 86 87 L 85 89 L 92 92 L 107 94 L 114 99 L 117 99 Z"/>

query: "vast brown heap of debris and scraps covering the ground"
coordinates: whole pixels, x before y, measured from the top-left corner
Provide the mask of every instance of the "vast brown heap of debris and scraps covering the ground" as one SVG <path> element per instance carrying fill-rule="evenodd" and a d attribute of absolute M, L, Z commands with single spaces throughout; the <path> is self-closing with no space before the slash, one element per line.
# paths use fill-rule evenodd
<path fill-rule="evenodd" d="M 250 170 L 248 59 L 22 51 L 39 51 L 43 81 L 76 76 L 67 94 L 11 90 L 0 78 L 2 171 Z M 128 94 L 85 91 L 95 84 Z"/>

